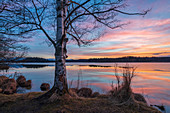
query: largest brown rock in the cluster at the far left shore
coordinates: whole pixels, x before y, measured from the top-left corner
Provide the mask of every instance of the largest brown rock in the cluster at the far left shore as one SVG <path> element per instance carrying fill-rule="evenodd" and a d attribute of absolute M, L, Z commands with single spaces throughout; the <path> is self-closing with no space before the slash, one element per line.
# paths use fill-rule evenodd
<path fill-rule="evenodd" d="M 7 79 L 2 85 L 2 93 L 4 94 L 13 94 L 16 92 L 17 82 L 15 79 Z"/>

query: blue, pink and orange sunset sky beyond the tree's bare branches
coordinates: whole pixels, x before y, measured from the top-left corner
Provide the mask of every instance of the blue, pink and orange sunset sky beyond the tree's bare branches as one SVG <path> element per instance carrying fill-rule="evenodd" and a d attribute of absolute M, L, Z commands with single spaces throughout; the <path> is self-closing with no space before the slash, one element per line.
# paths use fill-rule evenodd
<path fill-rule="evenodd" d="M 68 59 L 117 58 L 124 56 L 170 57 L 170 0 L 128 0 L 128 12 L 152 9 L 145 16 L 118 15 L 122 22 L 130 22 L 118 29 L 105 28 L 104 36 L 91 46 L 67 45 Z M 54 49 L 42 35 L 26 42 L 27 56 L 54 58 Z"/>

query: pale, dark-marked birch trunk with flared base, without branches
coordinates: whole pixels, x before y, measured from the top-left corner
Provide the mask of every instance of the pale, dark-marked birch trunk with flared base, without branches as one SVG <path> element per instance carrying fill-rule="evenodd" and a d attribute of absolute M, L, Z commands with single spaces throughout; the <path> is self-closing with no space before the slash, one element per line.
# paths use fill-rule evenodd
<path fill-rule="evenodd" d="M 38 97 L 41 98 L 50 98 L 53 94 L 62 96 L 68 93 L 68 84 L 66 77 L 66 44 L 68 39 L 66 38 L 66 31 L 64 29 L 65 23 L 64 19 L 66 17 L 66 6 L 63 4 L 67 0 L 57 0 L 57 36 L 55 45 L 55 79 L 54 85 L 50 91 L 44 95 Z"/>

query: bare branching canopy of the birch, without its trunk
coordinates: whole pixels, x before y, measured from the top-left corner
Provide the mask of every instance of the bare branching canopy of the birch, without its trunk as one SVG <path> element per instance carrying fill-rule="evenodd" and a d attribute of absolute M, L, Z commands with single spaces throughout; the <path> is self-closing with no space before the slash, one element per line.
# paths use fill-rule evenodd
<path fill-rule="evenodd" d="M 116 18 L 118 14 L 145 15 L 149 11 L 125 12 L 126 0 L 63 0 L 62 5 L 67 7 L 63 12 L 67 37 L 77 41 L 78 45 L 99 38 L 102 25 L 111 29 L 126 25 Z M 2 0 L 0 12 L 1 33 L 17 36 L 40 30 L 56 45 L 56 0 Z"/>

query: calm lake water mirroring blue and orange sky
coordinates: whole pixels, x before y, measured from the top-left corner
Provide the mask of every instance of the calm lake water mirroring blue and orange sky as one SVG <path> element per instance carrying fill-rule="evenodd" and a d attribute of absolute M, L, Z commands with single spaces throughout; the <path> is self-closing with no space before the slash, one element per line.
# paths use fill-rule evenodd
<path fill-rule="evenodd" d="M 111 89 L 112 81 L 116 83 L 114 65 L 114 63 L 67 63 L 69 87 L 77 87 L 79 79 L 79 87 L 90 87 L 94 91 L 107 93 Z M 170 112 L 170 63 L 129 63 L 129 65 L 137 67 L 136 76 L 132 80 L 133 91 L 143 94 L 149 104 L 165 105 L 166 111 Z M 118 63 L 118 66 L 125 66 L 125 63 Z M 32 89 L 23 90 L 25 92 L 40 91 L 43 82 L 50 83 L 51 86 L 53 84 L 53 63 L 38 68 L 13 67 L 8 74 L 15 71 L 32 80 Z M 121 69 L 119 72 L 121 73 Z"/>

